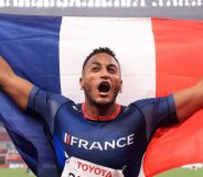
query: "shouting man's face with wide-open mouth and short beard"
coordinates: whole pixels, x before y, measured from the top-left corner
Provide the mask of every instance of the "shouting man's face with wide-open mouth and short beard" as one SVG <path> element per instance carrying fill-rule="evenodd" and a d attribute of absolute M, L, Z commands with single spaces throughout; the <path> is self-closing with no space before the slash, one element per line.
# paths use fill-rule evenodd
<path fill-rule="evenodd" d="M 85 65 L 79 84 L 85 92 L 85 101 L 90 104 L 115 103 L 122 85 L 120 67 L 110 55 L 96 54 Z"/>

